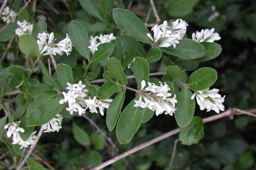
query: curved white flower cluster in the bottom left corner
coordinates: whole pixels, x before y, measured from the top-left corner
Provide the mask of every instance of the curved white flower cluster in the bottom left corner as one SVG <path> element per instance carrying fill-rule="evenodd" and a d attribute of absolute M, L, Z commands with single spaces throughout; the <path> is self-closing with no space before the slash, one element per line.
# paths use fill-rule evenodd
<path fill-rule="evenodd" d="M 33 144 L 36 144 L 37 142 L 37 136 L 35 135 L 36 131 L 34 131 L 31 136 L 29 137 L 29 139 L 27 139 L 26 141 L 23 141 L 23 139 L 21 139 L 20 137 L 20 133 L 24 133 L 24 129 L 19 127 L 20 125 L 20 121 L 17 122 L 12 122 L 12 123 L 8 123 L 7 125 L 5 125 L 5 129 L 7 130 L 7 136 L 11 137 L 12 136 L 12 144 L 19 144 L 21 145 L 20 149 L 23 147 L 28 147 L 28 145 L 31 145 L 31 147 L 33 146 Z"/>

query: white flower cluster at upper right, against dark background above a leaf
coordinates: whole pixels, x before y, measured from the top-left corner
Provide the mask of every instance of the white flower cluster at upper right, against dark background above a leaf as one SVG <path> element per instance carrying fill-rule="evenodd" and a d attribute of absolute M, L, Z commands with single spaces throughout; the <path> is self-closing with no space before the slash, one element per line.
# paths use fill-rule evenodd
<path fill-rule="evenodd" d="M 212 29 L 202 29 L 201 32 L 196 31 L 196 33 L 192 34 L 192 40 L 196 42 L 214 42 L 217 40 L 221 40 L 220 35 L 214 32 L 214 28 Z"/>

